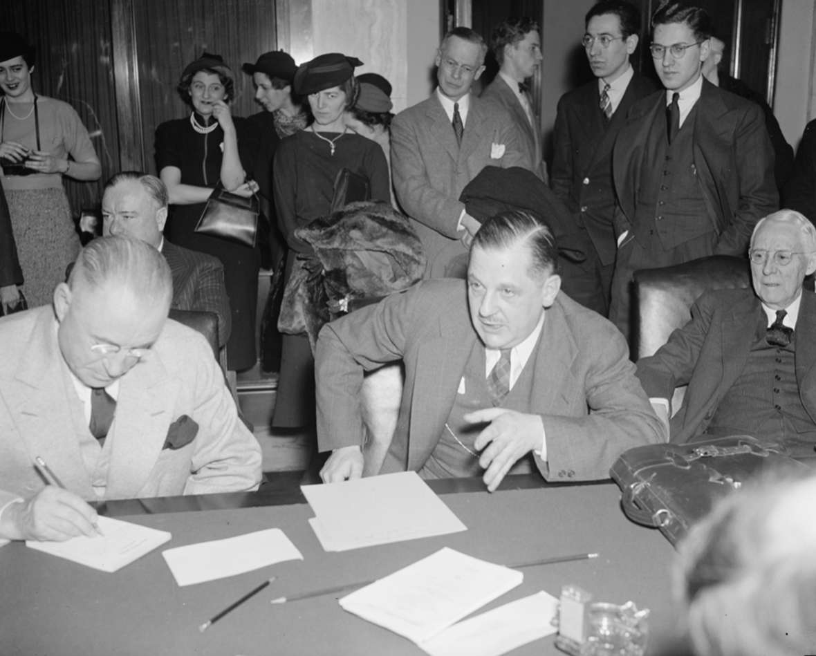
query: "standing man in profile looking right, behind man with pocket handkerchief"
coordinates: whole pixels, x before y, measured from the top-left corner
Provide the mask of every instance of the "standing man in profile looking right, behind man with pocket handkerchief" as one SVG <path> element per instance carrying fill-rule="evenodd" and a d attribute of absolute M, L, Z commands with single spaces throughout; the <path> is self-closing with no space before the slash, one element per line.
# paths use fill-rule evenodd
<path fill-rule="evenodd" d="M 526 82 L 541 64 L 539 24 L 526 16 L 508 18 L 493 30 L 490 46 L 499 74 L 481 94 L 507 110 L 521 136 L 521 148 L 533 165 L 533 172 L 546 182 L 541 154 L 541 131 L 533 111 L 530 84 Z"/>

